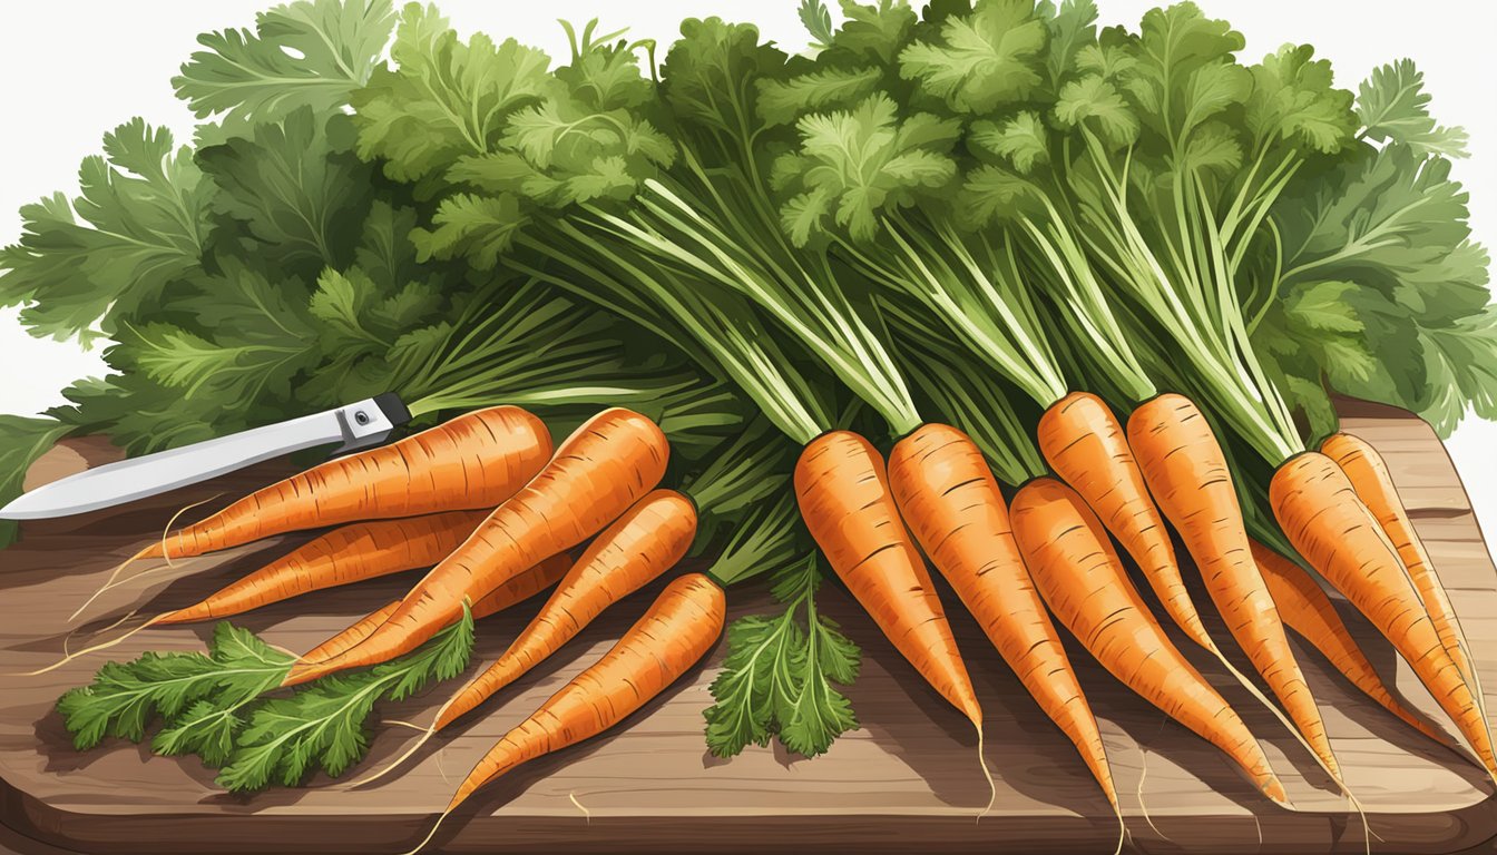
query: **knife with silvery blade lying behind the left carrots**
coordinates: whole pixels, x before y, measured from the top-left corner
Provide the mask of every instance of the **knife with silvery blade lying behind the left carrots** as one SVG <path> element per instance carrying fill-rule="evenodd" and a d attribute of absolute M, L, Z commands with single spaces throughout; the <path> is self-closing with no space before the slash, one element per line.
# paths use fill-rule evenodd
<path fill-rule="evenodd" d="M 406 404 L 394 392 L 386 392 L 316 415 L 69 475 L 0 508 L 0 520 L 87 514 L 334 442 L 343 443 L 334 451 L 335 455 L 347 454 L 385 442 L 392 430 L 409 421 L 410 410 Z"/>

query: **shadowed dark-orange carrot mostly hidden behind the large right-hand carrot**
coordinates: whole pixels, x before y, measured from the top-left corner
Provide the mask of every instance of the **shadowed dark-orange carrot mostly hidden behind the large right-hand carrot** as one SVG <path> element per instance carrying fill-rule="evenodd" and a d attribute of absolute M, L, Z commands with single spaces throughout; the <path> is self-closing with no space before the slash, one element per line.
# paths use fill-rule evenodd
<path fill-rule="evenodd" d="M 1316 650 L 1319 650 L 1331 665 L 1362 690 L 1364 695 L 1403 719 L 1409 726 L 1430 737 L 1440 744 L 1449 744 L 1443 734 L 1431 728 L 1424 719 L 1404 707 L 1394 698 L 1377 669 L 1367 660 L 1362 648 L 1356 645 L 1352 632 L 1341 621 L 1331 597 L 1320 588 L 1319 582 L 1310 578 L 1299 565 L 1253 541 L 1253 559 L 1263 573 L 1268 593 L 1278 606 L 1278 615 L 1284 618 L 1289 629 L 1298 632 Z"/>

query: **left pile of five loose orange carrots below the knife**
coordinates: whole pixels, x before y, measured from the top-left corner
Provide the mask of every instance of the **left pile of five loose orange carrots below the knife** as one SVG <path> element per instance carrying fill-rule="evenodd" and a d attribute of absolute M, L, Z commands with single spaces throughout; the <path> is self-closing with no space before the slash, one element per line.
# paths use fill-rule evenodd
<path fill-rule="evenodd" d="M 686 556 L 696 538 L 696 506 L 657 488 L 668 460 L 660 428 L 630 410 L 597 413 L 554 449 L 546 425 L 525 410 L 476 410 L 257 490 L 145 547 L 132 562 L 340 526 L 142 629 L 241 614 L 434 565 L 403 599 L 301 656 L 284 680 L 295 686 L 409 653 L 464 609 L 484 617 L 554 587 L 509 651 L 442 708 L 437 729 Z M 579 556 L 569 556 L 584 542 Z M 496 746 L 452 804 L 503 771 L 638 710 L 702 659 L 723 620 L 719 582 L 702 573 L 677 578 L 612 651 Z"/>

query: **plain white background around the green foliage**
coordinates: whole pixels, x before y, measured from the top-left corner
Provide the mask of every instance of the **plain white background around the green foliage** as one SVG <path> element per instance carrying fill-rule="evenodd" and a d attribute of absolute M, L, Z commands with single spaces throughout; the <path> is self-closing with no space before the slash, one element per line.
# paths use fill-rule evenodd
<path fill-rule="evenodd" d="M 0 4 L 0 244 L 16 240 L 16 210 L 42 195 L 76 192 L 78 162 L 99 151 L 100 135 L 133 115 L 192 138 L 193 118 L 175 100 L 171 78 L 195 49 L 198 33 L 249 27 L 271 0 L 153 0 L 150 3 L 16 1 Z M 668 43 L 681 18 L 722 15 L 759 24 L 786 49 L 805 45 L 796 0 L 442 0 L 464 33 L 515 36 L 564 60 L 557 18 L 585 22 L 602 16 L 603 31 L 629 25 L 632 37 Z M 1136 25 L 1154 0 L 1099 0 L 1103 24 Z M 1207 13 L 1228 18 L 1247 36 L 1246 57 L 1283 42 L 1308 42 L 1335 64 L 1337 82 L 1353 88 L 1377 64 L 1412 57 L 1434 94 L 1443 124 L 1464 126 L 1472 157 L 1455 177 L 1472 193 L 1476 238 L 1497 246 L 1497 103 L 1493 100 L 1493 34 L 1497 4 L 1490 0 L 1199 0 Z M 0 412 L 34 413 L 63 401 L 58 391 L 99 373 L 97 352 L 67 341 L 30 338 L 15 310 L 0 310 Z M 1467 421 L 1449 442 L 1478 517 L 1497 532 L 1497 424 Z"/>

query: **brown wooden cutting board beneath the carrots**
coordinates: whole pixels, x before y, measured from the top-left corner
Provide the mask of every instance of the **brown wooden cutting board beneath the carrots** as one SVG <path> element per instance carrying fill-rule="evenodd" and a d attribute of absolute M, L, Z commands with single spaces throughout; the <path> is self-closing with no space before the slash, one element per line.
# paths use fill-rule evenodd
<path fill-rule="evenodd" d="M 1497 689 L 1497 573 L 1445 449 L 1409 413 L 1356 403 L 1344 404 L 1343 412 L 1346 430 L 1388 458 L 1455 600 L 1484 684 Z M 99 463 L 108 452 L 97 442 L 69 442 L 33 469 L 30 482 Z M 275 467 L 259 467 L 127 509 L 27 526 L 24 541 L 0 553 L 0 671 L 25 671 L 57 659 L 75 629 L 69 612 L 115 563 L 157 536 L 177 508 L 220 493 L 232 497 L 280 475 Z M 154 611 L 193 602 L 295 541 L 181 562 L 124 585 L 100 597 L 72 648 L 132 608 Z M 311 594 L 244 615 L 243 624 L 274 644 L 305 650 L 388 602 L 409 581 L 401 576 Z M 46 852 L 409 849 L 473 762 L 602 654 L 656 590 L 615 606 L 552 662 L 491 701 L 487 714 L 433 740 L 404 774 L 362 791 L 338 791 L 319 777 L 302 789 L 234 797 L 216 789 L 213 771 L 192 759 L 156 758 L 121 741 L 78 753 L 52 702 L 64 689 L 87 683 L 99 659 L 42 677 L 0 677 L 0 822 L 13 831 L 12 840 L 37 842 L 36 851 Z M 949 591 L 943 594 L 948 603 L 955 602 Z M 1204 593 L 1199 602 L 1205 602 Z M 731 603 L 734 617 L 772 608 L 762 588 L 735 590 Z M 988 786 L 970 725 L 834 585 L 826 587 L 823 609 L 865 651 L 862 677 L 849 690 L 862 728 L 838 740 L 828 755 L 807 761 L 780 747 L 751 747 L 722 761 L 707 753 L 701 713 L 710 704 L 707 686 L 722 660 L 720 644 L 705 665 L 617 729 L 521 767 L 482 791 L 448 821 L 430 851 L 1114 851 L 1117 822 L 1085 767 L 970 618 L 952 609 L 987 711 L 985 756 L 997 779 L 997 801 L 981 822 Z M 1343 612 L 1385 678 L 1443 723 L 1389 645 L 1349 609 Z M 482 621 L 475 662 L 493 660 L 525 617 L 516 612 Z M 201 650 L 208 632 L 208 626 L 144 632 L 108 656 Z M 1186 648 L 1183 639 L 1180 645 Z M 1367 810 L 1376 834 L 1373 851 L 1493 851 L 1497 800 L 1476 765 L 1365 701 L 1308 647 L 1295 641 L 1295 651 L 1346 777 Z M 1298 744 L 1205 657 L 1195 662 L 1260 735 L 1296 810 L 1260 798 L 1216 749 L 1166 722 L 1088 663 L 1079 648 L 1072 647 L 1072 656 L 1102 725 L 1132 851 L 1364 851 L 1362 819 L 1347 813 Z M 1488 695 L 1497 704 L 1497 696 Z M 439 689 L 385 705 L 379 714 L 425 723 L 443 698 Z M 383 764 L 412 738 L 409 729 L 376 728 L 364 768 Z"/>

